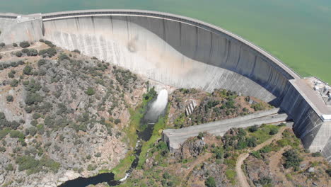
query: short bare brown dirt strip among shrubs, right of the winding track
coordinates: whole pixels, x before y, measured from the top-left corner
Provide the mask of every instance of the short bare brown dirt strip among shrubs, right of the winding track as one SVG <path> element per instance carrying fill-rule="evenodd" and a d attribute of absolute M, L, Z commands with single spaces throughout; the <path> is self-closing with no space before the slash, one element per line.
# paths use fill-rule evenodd
<path fill-rule="evenodd" d="M 286 186 L 292 187 L 292 183 L 287 181 L 286 176 L 284 176 L 284 173 L 280 171 L 279 162 L 281 160 L 281 154 L 285 152 L 285 149 L 288 149 L 289 147 L 283 147 L 281 148 L 278 152 L 275 152 L 272 154 L 270 157 L 270 163 L 269 163 L 269 168 L 272 173 L 274 173 L 279 181 L 286 181 Z"/>

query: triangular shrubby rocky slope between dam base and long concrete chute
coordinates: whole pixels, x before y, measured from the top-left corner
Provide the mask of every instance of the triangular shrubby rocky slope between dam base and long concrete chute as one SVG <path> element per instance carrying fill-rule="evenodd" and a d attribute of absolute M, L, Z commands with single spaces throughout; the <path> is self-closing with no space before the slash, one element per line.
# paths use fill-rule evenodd
<path fill-rule="evenodd" d="M 211 94 L 197 89 L 178 89 L 173 91 L 169 98 L 168 125 L 175 128 L 236 118 L 272 108 L 257 98 L 241 96 L 223 89 L 215 90 Z"/>

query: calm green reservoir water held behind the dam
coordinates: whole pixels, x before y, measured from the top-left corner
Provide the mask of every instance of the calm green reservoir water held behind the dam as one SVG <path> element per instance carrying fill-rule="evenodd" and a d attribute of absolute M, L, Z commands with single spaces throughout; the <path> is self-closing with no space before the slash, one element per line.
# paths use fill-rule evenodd
<path fill-rule="evenodd" d="M 267 50 L 303 77 L 331 82 L 330 0 L 0 0 L 0 12 L 128 8 L 212 23 Z"/>

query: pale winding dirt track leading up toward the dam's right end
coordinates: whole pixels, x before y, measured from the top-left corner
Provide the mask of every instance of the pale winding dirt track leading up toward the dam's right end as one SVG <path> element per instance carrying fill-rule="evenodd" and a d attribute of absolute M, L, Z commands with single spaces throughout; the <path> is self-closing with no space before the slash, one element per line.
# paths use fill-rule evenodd
<path fill-rule="evenodd" d="M 245 173 L 243 172 L 243 169 L 241 169 L 241 165 L 243 165 L 244 160 L 250 155 L 250 152 L 252 151 L 257 151 L 259 149 L 261 149 L 262 147 L 265 147 L 266 145 L 271 144 L 274 140 L 280 140 L 282 135 L 281 133 L 283 133 L 283 131 L 286 129 L 286 127 L 281 128 L 279 130 L 279 132 L 274 135 L 273 137 L 271 137 L 269 140 L 263 142 L 260 145 L 257 145 L 257 147 L 255 147 L 254 149 L 251 149 L 248 151 L 248 153 L 243 153 L 240 154 L 238 159 L 237 159 L 237 164 L 236 164 L 236 173 L 237 173 L 237 179 L 240 183 L 240 186 L 242 187 L 249 187 L 250 184 L 248 183 Z"/>

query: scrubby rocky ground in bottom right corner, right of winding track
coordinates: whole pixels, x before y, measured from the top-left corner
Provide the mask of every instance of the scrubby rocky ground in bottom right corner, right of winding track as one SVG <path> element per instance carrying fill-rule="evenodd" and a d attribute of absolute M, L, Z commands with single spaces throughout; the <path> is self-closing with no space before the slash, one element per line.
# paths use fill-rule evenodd
<path fill-rule="evenodd" d="M 331 166 L 325 158 L 305 151 L 291 130 L 282 135 L 245 160 L 251 186 L 331 186 Z"/>

